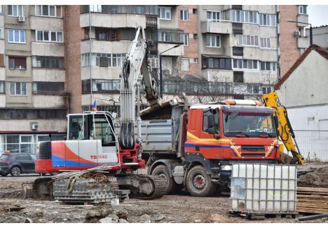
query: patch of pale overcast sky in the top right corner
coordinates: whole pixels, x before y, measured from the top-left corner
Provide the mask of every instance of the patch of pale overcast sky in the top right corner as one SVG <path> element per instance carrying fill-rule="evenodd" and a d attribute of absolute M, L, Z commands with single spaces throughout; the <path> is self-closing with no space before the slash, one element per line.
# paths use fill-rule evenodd
<path fill-rule="evenodd" d="M 318 27 L 320 25 L 328 25 L 328 5 L 326 6 L 308 5 L 308 22 L 312 24 L 312 27 Z"/>

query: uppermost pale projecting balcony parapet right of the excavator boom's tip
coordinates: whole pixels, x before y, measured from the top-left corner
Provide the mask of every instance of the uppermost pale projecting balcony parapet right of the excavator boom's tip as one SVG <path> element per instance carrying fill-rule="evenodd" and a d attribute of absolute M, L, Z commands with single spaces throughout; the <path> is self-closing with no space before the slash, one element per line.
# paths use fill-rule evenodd
<path fill-rule="evenodd" d="M 203 21 L 200 22 L 200 31 L 204 33 L 213 34 L 231 34 L 233 27 L 231 22 L 215 22 L 215 21 Z"/>

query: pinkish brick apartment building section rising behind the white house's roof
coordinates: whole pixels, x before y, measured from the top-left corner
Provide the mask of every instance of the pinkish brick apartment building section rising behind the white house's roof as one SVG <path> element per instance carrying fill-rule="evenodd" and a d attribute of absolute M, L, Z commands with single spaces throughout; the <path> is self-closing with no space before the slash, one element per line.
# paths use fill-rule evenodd
<path fill-rule="evenodd" d="M 310 45 L 305 28 L 308 27 L 307 6 L 279 6 L 279 62 L 280 76 L 292 67 L 294 62 Z"/>

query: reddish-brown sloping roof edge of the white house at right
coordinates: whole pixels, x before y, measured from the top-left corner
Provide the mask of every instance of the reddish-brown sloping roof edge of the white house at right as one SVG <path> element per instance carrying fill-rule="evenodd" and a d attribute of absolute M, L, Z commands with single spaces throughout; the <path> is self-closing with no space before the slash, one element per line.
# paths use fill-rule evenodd
<path fill-rule="evenodd" d="M 279 90 L 280 86 L 285 83 L 285 81 L 289 78 L 289 76 L 297 69 L 297 67 L 299 67 L 299 65 L 304 61 L 304 59 L 306 59 L 306 57 L 308 56 L 308 54 L 310 54 L 310 52 L 312 50 L 315 50 L 316 52 L 318 52 L 322 57 L 324 57 L 325 59 L 328 59 L 328 50 L 321 48 L 318 45 L 311 45 L 310 47 L 308 47 L 308 49 L 306 49 L 305 52 L 303 52 L 303 55 L 301 55 L 299 57 L 299 59 L 296 60 L 296 62 L 294 63 L 294 65 L 287 71 L 287 73 L 285 73 L 284 76 L 282 76 L 282 78 L 280 78 L 280 80 L 278 80 L 278 83 L 275 84 L 275 90 Z"/>

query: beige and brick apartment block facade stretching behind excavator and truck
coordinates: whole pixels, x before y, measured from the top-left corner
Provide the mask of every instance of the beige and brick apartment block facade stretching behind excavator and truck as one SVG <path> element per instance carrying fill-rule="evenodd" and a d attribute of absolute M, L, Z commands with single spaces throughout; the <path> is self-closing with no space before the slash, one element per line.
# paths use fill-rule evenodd
<path fill-rule="evenodd" d="M 156 78 L 161 62 L 164 99 L 179 92 L 193 103 L 260 99 L 288 57 L 279 24 L 287 6 L 0 8 L 0 153 L 34 152 L 48 134 L 63 136 L 67 113 L 88 111 L 94 101 L 119 112 L 120 73 L 136 27 L 145 29 Z M 22 150 L 24 143 L 32 146 Z"/>

